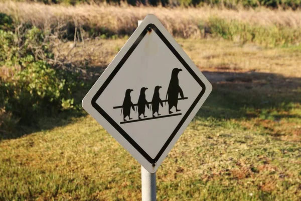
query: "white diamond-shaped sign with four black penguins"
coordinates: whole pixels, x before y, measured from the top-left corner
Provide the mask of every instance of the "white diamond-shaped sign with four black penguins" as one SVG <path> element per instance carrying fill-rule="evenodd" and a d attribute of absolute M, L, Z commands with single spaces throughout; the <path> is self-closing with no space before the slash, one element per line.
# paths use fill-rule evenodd
<path fill-rule="evenodd" d="M 148 15 L 84 97 L 83 108 L 154 173 L 212 85 Z"/>

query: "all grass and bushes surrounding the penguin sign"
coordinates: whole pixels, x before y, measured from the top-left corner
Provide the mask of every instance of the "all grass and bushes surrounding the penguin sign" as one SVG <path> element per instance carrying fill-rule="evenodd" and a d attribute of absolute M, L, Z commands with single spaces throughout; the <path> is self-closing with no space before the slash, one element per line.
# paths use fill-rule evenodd
<path fill-rule="evenodd" d="M 41 4 L 42 3 L 42 4 Z M 84 94 L 155 14 L 213 84 L 158 200 L 300 200 L 299 1 L 0 2 L 0 200 L 139 200 Z"/>

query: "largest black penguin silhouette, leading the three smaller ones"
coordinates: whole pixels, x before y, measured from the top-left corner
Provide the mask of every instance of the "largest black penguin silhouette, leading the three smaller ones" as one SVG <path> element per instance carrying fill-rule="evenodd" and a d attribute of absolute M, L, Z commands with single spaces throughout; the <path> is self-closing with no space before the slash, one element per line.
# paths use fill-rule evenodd
<path fill-rule="evenodd" d="M 181 110 L 178 110 L 178 97 L 179 97 L 179 93 L 180 93 L 180 96 L 183 98 L 184 93 L 183 93 L 182 88 L 179 85 L 178 74 L 179 74 L 180 71 L 182 71 L 182 69 L 180 69 L 180 68 L 174 68 L 173 69 L 171 81 L 170 81 L 170 84 L 169 84 L 168 89 L 167 89 L 165 99 L 168 102 L 168 112 L 169 112 L 169 114 L 173 113 L 171 111 L 171 109 L 173 107 L 176 108 L 176 112 L 181 111 Z M 168 97 L 168 99 L 167 99 L 167 97 Z M 165 102 L 165 105 L 166 105 L 166 102 Z"/>

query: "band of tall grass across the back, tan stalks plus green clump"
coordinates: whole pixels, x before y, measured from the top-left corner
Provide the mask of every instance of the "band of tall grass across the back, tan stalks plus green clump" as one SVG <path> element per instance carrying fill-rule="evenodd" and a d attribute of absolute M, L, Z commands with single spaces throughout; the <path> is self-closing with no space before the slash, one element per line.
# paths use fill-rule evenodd
<path fill-rule="evenodd" d="M 36 3 L 0 2 L 0 12 L 20 23 L 43 28 L 45 32 L 64 30 L 65 37 L 80 40 L 95 36 L 131 35 L 147 14 L 155 14 L 175 37 L 225 39 L 254 42 L 267 47 L 299 45 L 301 12 L 259 8 L 227 10 L 218 8 L 120 7 L 96 5 L 44 5 Z M 181 18 L 179 18 L 181 16 Z"/>

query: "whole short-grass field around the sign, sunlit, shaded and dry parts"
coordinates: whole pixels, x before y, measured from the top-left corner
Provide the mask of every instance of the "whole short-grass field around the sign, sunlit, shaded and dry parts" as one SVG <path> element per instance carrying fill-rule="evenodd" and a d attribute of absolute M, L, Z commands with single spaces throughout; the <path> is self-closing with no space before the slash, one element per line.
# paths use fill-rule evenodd
<path fill-rule="evenodd" d="M 67 42 L 60 56 L 95 80 L 125 41 Z M 299 200 L 300 49 L 177 41 L 213 92 L 159 168 L 158 200 Z M 23 129 L 0 141 L 0 200 L 140 200 L 139 164 L 84 112 Z"/>

